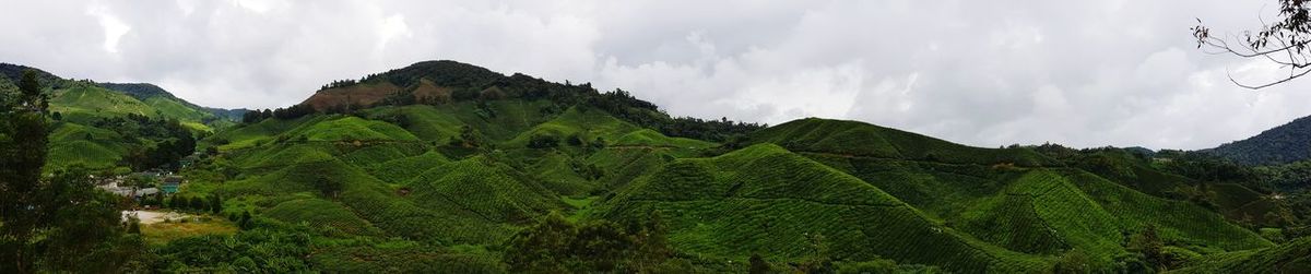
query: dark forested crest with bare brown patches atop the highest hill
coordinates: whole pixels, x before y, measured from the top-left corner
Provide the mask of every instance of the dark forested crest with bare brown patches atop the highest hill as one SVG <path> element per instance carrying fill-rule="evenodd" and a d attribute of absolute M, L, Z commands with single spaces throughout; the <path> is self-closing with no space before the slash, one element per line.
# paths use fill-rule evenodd
<path fill-rule="evenodd" d="M 638 100 L 621 89 L 600 92 L 590 83 L 552 83 L 528 75 L 505 76 L 490 69 L 454 60 L 430 60 L 375 73 L 361 80 L 338 80 L 324 85 L 304 102 L 274 117 L 300 117 L 312 111 L 350 113 L 376 106 L 450 105 L 523 100 L 549 102 L 538 110 L 560 113 L 569 106 L 600 109 L 615 118 L 661 134 L 712 142 L 728 140 L 763 128 L 762 125 L 728 119 L 671 117 L 656 104 Z M 485 104 L 479 115 L 494 117 Z M 305 111 L 308 110 L 308 111 Z"/>

